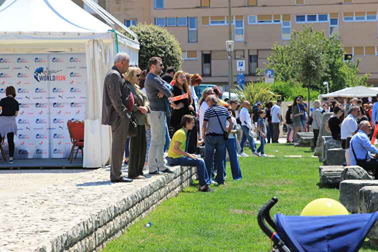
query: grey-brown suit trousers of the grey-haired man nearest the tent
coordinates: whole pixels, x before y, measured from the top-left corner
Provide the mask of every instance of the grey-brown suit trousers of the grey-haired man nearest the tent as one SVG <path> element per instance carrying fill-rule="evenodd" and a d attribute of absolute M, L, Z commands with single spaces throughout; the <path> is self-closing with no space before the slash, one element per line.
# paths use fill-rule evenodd
<path fill-rule="evenodd" d="M 117 180 L 122 177 L 122 161 L 125 151 L 127 133 L 129 132 L 130 119 L 118 116 L 115 125 L 112 125 L 112 161 L 110 167 L 110 179 Z"/>

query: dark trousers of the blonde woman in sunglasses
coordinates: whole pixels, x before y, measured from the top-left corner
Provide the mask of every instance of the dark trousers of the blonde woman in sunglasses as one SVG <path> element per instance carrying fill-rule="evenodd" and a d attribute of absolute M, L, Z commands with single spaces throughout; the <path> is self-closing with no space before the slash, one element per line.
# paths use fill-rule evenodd
<path fill-rule="evenodd" d="M 143 175 L 146 151 L 146 126 L 138 125 L 138 134 L 130 138 L 129 177 Z"/>

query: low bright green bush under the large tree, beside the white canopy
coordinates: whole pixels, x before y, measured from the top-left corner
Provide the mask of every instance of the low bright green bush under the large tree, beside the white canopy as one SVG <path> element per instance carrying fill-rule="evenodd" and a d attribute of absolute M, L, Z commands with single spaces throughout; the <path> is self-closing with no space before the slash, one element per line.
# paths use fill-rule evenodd
<path fill-rule="evenodd" d="M 298 95 L 307 96 L 307 88 L 295 80 L 275 81 L 271 84 L 271 89 L 273 92 L 281 95 L 281 99 L 284 101 L 292 101 Z M 310 89 L 310 100 L 317 99 L 319 94 L 319 91 Z"/>

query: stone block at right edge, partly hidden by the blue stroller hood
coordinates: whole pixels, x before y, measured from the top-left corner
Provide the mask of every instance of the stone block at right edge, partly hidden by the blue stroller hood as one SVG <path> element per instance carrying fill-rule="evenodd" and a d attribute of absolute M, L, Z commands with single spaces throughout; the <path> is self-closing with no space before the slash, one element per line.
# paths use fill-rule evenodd
<path fill-rule="evenodd" d="M 358 213 L 372 213 L 378 209 L 378 186 L 363 186 L 358 191 Z M 374 245 L 378 240 L 378 221 L 367 233 L 370 243 Z M 372 240 L 371 240 L 372 239 Z M 376 245 L 376 244 L 375 244 Z"/>

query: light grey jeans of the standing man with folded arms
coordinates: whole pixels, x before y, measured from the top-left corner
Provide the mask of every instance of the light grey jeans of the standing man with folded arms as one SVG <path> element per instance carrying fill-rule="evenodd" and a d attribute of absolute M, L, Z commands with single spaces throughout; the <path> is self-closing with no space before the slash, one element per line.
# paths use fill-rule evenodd
<path fill-rule="evenodd" d="M 151 125 L 151 143 L 148 153 L 149 172 L 158 169 L 165 170 L 167 167 L 164 162 L 164 144 L 166 135 L 167 121 L 164 111 L 151 111 L 148 114 L 148 121 Z"/>

